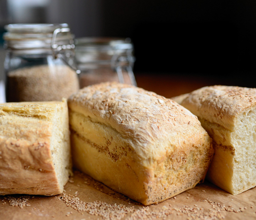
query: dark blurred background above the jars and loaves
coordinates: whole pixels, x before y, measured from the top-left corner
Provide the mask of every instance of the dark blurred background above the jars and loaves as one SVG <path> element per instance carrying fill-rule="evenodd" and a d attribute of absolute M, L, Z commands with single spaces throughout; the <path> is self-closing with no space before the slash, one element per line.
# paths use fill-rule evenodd
<path fill-rule="evenodd" d="M 18 10 L 17 1 L 0 0 L 2 30 L 68 23 L 76 37 L 130 37 L 136 77 L 256 87 L 256 1 L 27 0 Z"/>

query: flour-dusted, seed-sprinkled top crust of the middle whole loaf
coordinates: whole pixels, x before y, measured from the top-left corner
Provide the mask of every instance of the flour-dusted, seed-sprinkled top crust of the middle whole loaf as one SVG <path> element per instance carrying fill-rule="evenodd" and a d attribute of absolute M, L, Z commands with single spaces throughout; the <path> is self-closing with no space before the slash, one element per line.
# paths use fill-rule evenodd
<path fill-rule="evenodd" d="M 209 141 L 197 117 L 171 99 L 142 88 L 101 83 L 68 99 L 71 111 L 111 126 L 144 159 L 161 159 L 175 148 Z"/>

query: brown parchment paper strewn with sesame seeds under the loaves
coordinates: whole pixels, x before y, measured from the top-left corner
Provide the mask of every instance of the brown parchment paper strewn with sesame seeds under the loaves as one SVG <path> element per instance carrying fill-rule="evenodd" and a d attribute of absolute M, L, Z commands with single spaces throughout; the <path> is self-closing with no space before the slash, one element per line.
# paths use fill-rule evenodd
<path fill-rule="evenodd" d="M 64 194 L 56 196 L 0 196 L 0 220 L 256 220 L 256 188 L 231 195 L 206 181 L 175 198 L 144 206 L 74 171 L 64 189 Z M 87 210 L 77 210 L 69 201 L 72 198 Z M 25 206 L 20 204 L 22 199 Z M 90 209 L 92 202 L 96 208 Z"/>

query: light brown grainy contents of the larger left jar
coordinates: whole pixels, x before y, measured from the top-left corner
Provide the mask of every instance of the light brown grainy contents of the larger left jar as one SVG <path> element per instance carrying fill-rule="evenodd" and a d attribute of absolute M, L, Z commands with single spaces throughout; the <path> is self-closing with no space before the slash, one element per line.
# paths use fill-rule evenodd
<path fill-rule="evenodd" d="M 24 67 L 7 78 L 9 102 L 61 100 L 79 89 L 76 72 L 66 65 Z"/>

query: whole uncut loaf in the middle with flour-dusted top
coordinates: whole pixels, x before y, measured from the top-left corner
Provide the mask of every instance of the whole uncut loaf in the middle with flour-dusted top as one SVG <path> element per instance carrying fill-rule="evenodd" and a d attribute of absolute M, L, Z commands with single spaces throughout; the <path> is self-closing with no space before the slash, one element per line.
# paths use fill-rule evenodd
<path fill-rule="evenodd" d="M 197 117 L 142 88 L 102 83 L 68 100 L 74 166 L 145 205 L 204 179 L 211 138 Z"/>

